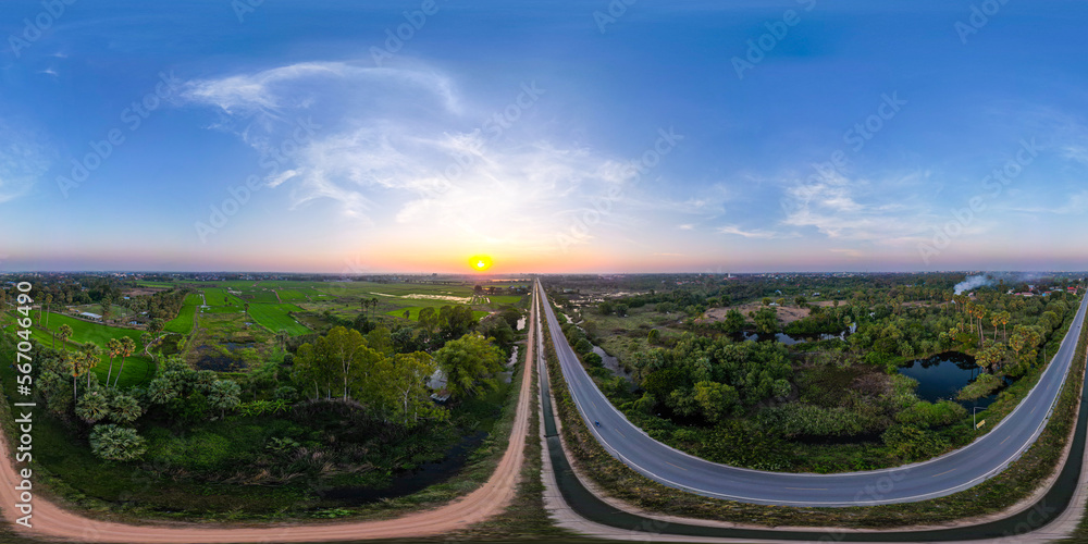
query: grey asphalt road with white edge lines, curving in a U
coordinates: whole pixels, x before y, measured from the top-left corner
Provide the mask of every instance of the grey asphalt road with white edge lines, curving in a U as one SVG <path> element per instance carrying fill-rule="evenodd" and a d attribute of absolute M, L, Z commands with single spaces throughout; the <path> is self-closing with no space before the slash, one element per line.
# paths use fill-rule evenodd
<path fill-rule="evenodd" d="M 542 296 L 544 295 L 541 288 Z M 863 506 L 913 503 L 951 495 L 991 478 L 1025 452 L 1042 432 L 1061 391 L 1088 297 L 1058 355 L 1039 383 L 993 430 L 962 449 L 895 469 L 839 474 L 764 472 L 718 465 L 673 449 L 632 424 L 597 390 L 543 304 L 562 374 L 590 431 L 617 459 L 665 485 L 715 498 L 783 506 Z M 599 421 L 601 426 L 595 426 Z"/>

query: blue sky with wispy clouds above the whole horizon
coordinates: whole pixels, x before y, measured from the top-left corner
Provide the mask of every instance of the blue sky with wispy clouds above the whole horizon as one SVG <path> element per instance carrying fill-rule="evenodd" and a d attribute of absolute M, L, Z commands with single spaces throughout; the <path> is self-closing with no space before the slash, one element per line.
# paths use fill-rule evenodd
<path fill-rule="evenodd" d="M 0 270 L 1088 269 L 1083 2 L 244 2 L 0 5 Z"/>

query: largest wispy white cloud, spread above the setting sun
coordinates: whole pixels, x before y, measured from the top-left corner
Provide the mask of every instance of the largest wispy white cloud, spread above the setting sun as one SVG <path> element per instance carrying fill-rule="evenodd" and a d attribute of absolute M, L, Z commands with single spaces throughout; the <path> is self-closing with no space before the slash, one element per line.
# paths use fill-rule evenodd
<path fill-rule="evenodd" d="M 490 115 L 467 113 L 506 111 L 519 92 L 480 106 L 426 66 L 310 62 L 193 82 L 184 99 L 220 111 L 218 127 L 262 156 L 275 153 L 296 118 L 312 114 L 323 127 L 265 181 L 288 190 L 295 208 L 334 200 L 346 217 L 396 222 L 398 233 L 553 248 L 572 215 L 635 170 L 522 131 L 530 111 L 502 131 Z M 622 212 L 608 219 L 619 222 Z"/>

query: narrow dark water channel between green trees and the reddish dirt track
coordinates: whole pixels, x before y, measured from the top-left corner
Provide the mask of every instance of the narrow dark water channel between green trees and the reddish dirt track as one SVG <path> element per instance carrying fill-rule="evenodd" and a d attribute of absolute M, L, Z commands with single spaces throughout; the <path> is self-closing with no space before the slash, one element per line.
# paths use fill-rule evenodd
<path fill-rule="evenodd" d="M 469 453 L 477 448 L 487 433 L 481 431 L 465 436 L 454 447 L 449 448 L 441 461 L 428 462 L 412 470 L 394 473 L 390 485 L 375 490 L 372 487 L 335 487 L 324 493 L 324 497 L 341 500 L 345 505 L 364 505 L 383 498 L 403 497 L 420 492 L 436 483 L 442 483 L 456 475 L 468 460 Z"/>

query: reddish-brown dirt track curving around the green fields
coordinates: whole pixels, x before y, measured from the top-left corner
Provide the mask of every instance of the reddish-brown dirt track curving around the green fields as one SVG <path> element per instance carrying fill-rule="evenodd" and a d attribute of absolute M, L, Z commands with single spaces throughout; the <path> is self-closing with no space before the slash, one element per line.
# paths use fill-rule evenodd
<path fill-rule="evenodd" d="M 530 323 L 535 320 L 530 319 Z M 518 397 L 518 408 L 511 430 L 509 446 L 499 460 L 495 473 L 477 491 L 434 510 L 410 514 L 380 521 L 356 521 L 316 524 L 270 524 L 265 527 L 208 526 L 172 523 L 133 526 L 98 521 L 61 509 L 57 505 L 35 497 L 33 529 L 16 524 L 18 483 L 12 465 L 11 448 L 7 436 L 0 433 L 0 448 L 4 453 L 0 463 L 0 507 L 4 519 L 12 527 L 28 535 L 65 539 L 77 542 L 133 542 L 133 543 L 243 543 L 243 542 L 329 542 L 366 539 L 406 539 L 447 534 L 466 529 L 500 512 L 514 498 L 518 475 L 524 457 L 526 432 L 529 426 L 530 382 L 532 361 L 535 357 L 532 325 L 527 342 L 524 378 Z"/>

